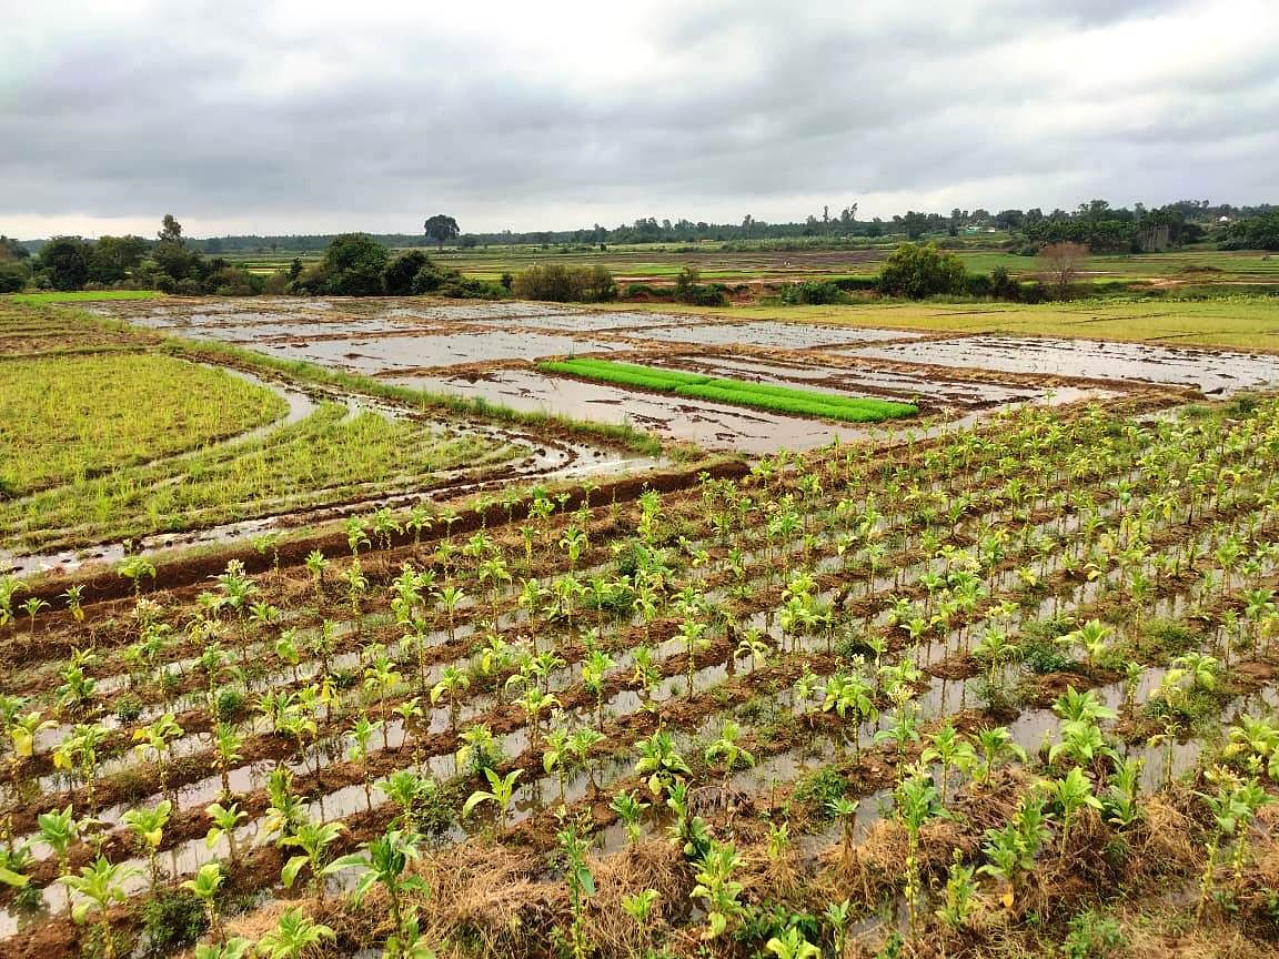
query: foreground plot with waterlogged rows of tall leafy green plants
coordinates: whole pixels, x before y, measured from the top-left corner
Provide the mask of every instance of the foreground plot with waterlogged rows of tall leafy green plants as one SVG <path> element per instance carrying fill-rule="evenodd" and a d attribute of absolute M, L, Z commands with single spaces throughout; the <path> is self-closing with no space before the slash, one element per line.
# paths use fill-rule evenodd
<path fill-rule="evenodd" d="M 1154 412 L 9 581 L 6 950 L 1261 955 L 1279 404 Z"/>

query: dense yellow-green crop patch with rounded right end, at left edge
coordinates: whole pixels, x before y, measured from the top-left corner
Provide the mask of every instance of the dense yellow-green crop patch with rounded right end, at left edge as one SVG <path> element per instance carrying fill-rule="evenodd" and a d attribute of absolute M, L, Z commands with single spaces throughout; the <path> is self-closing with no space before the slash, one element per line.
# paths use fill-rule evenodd
<path fill-rule="evenodd" d="M 0 490 L 77 483 L 285 414 L 274 391 L 152 354 L 0 362 Z"/>

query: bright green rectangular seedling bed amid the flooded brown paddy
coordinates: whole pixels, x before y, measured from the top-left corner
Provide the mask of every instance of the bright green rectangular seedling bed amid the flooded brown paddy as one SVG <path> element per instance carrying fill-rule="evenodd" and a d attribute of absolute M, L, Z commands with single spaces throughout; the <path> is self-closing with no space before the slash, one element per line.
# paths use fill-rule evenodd
<path fill-rule="evenodd" d="M 820 417 L 822 419 L 839 419 L 848 423 L 876 423 L 884 419 L 899 419 L 914 416 L 920 412 L 920 408 L 913 403 L 839 396 L 790 386 L 747 382 L 744 380 L 720 380 L 712 376 L 687 373 L 678 370 L 661 370 L 657 367 L 637 366 L 634 363 L 614 363 L 606 359 L 563 359 L 540 363 L 538 368 L 544 372 L 567 373 L 569 376 L 579 376 L 585 380 L 597 380 L 619 386 L 638 386 L 645 390 L 670 393 L 691 399 L 732 403 L 739 407 L 753 407 L 776 413 L 796 413 L 798 416 Z"/>

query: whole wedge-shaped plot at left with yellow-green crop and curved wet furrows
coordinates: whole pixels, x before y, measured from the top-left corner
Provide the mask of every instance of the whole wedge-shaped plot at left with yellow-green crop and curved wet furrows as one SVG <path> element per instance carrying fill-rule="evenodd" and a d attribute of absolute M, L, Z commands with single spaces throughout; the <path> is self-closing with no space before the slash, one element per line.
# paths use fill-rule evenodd
<path fill-rule="evenodd" d="M 656 463 L 570 425 L 482 422 L 347 381 L 302 389 L 288 368 L 261 370 L 267 382 L 220 366 L 237 362 L 226 350 L 83 313 L 6 309 L 0 341 L 18 344 L 0 361 L 0 573 Z"/>

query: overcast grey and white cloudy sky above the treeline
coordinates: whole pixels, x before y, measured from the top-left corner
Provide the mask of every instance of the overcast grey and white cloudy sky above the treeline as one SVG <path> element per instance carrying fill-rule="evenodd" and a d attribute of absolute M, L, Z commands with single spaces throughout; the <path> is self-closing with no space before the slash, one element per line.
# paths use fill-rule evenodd
<path fill-rule="evenodd" d="M 0 233 L 1279 202 L 1275 0 L 5 0 Z"/>

